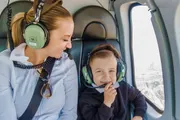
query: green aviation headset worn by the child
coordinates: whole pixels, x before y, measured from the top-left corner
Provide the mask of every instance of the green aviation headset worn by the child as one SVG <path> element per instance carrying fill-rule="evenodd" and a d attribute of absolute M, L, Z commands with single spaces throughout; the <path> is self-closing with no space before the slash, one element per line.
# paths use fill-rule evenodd
<path fill-rule="evenodd" d="M 117 56 L 117 51 L 114 51 L 112 50 L 112 48 L 110 46 L 106 46 L 102 49 L 97 49 L 95 51 L 92 51 L 89 56 L 88 56 L 88 61 L 87 61 L 87 65 L 85 65 L 83 68 L 82 68 L 82 73 L 83 73 L 83 76 L 84 76 L 84 79 L 85 79 L 85 82 L 88 83 L 88 84 L 92 84 L 94 83 L 93 81 L 93 75 L 92 75 L 92 71 L 91 71 L 91 67 L 89 65 L 89 60 L 90 60 L 90 57 L 96 53 L 96 52 L 99 52 L 101 50 L 109 50 L 109 51 L 112 51 L 114 56 L 117 58 L 117 73 L 116 73 L 116 76 L 117 76 L 117 82 L 120 82 L 124 79 L 125 77 L 125 74 L 126 74 L 126 67 L 125 67 L 125 63 L 123 62 L 123 60 L 121 59 L 121 57 Z"/>

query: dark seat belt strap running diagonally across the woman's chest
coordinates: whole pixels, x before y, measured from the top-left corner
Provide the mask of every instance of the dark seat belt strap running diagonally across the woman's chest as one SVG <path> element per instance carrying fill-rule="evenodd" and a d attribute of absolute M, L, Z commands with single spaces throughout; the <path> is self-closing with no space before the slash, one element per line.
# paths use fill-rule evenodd
<path fill-rule="evenodd" d="M 47 63 L 43 65 L 43 70 L 46 70 L 49 76 L 51 75 L 55 60 L 56 60 L 55 58 L 48 57 L 46 60 Z M 41 74 L 43 73 L 43 70 Z M 18 120 L 32 120 L 42 100 L 42 95 L 40 94 L 40 91 L 43 85 L 46 84 L 47 82 L 48 80 L 44 80 L 41 77 L 39 77 L 39 80 L 37 82 L 31 101 L 28 107 L 26 108 L 25 112 L 23 113 L 23 115 Z M 43 90 L 43 92 L 44 91 L 45 89 Z"/>

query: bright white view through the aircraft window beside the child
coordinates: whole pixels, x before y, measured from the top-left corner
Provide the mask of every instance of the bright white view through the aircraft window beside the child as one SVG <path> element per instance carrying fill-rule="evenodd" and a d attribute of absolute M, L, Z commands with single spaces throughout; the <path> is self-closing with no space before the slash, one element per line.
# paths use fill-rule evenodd
<path fill-rule="evenodd" d="M 131 10 L 132 51 L 137 88 L 157 108 L 164 110 L 164 86 L 157 39 L 147 6 Z"/>

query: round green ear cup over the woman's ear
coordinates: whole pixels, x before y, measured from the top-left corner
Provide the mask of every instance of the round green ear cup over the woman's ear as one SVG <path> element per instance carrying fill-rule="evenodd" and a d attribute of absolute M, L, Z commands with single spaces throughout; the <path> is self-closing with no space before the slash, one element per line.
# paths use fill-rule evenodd
<path fill-rule="evenodd" d="M 26 26 L 23 37 L 26 44 L 33 49 L 43 48 L 48 41 L 48 31 L 40 23 L 29 24 Z"/>

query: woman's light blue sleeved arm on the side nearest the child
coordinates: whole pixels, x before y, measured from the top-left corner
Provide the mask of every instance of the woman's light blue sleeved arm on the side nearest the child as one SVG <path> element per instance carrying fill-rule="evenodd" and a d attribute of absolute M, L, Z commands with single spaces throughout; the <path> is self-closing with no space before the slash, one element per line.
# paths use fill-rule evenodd
<path fill-rule="evenodd" d="M 78 99 L 78 77 L 75 62 L 71 60 L 67 76 L 64 80 L 65 105 L 60 113 L 59 120 L 77 119 L 77 99 Z"/>

